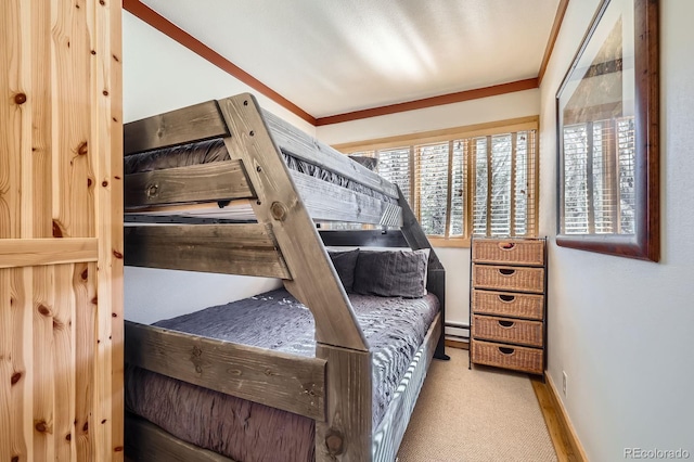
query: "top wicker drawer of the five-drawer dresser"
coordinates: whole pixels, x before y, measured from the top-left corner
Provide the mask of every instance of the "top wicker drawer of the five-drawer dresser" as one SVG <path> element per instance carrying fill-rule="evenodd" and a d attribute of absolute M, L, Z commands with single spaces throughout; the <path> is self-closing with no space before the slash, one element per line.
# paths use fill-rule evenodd
<path fill-rule="evenodd" d="M 473 261 L 512 265 L 544 265 L 544 240 L 473 241 Z"/>

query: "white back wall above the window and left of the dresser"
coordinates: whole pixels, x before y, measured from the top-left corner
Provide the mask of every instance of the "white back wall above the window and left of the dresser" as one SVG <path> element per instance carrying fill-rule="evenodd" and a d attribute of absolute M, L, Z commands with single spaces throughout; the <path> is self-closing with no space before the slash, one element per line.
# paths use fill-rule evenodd
<path fill-rule="evenodd" d="M 368 119 L 318 127 L 329 144 L 414 133 L 503 120 L 540 113 L 540 91 L 526 90 L 498 97 L 408 111 Z M 470 323 L 470 248 L 436 248 L 446 268 L 446 320 Z"/>

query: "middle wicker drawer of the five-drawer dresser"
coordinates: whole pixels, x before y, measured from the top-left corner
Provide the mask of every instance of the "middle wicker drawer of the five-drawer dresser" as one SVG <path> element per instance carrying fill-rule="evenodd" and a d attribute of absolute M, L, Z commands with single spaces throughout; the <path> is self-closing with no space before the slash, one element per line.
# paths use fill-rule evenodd
<path fill-rule="evenodd" d="M 513 318 L 544 318 L 544 296 L 510 292 L 473 291 L 473 312 Z"/>

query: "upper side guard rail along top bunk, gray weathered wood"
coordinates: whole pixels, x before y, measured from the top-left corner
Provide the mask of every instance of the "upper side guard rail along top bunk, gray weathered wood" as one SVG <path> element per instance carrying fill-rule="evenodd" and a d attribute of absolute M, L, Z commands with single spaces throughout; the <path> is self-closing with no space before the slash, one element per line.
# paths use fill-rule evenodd
<path fill-rule="evenodd" d="M 293 156 L 334 171 L 374 191 L 382 192 L 393 198 L 398 197 L 395 185 L 378 174 L 351 161 L 345 154 L 321 143 L 308 133 L 299 130 L 274 114 L 261 111 L 268 129 L 278 147 Z"/>

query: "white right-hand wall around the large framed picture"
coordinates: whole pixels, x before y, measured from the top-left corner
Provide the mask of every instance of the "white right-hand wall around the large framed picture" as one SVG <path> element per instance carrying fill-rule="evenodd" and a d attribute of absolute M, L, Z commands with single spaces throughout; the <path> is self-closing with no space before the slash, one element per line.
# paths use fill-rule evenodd
<path fill-rule="evenodd" d="M 541 86 L 541 231 L 556 234 L 554 98 L 599 0 L 569 3 Z M 625 448 L 694 458 L 694 2 L 660 1 L 661 259 L 549 256 L 549 373 L 590 460 Z"/>

